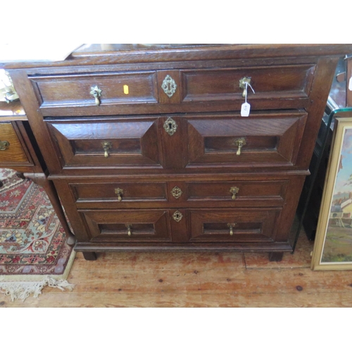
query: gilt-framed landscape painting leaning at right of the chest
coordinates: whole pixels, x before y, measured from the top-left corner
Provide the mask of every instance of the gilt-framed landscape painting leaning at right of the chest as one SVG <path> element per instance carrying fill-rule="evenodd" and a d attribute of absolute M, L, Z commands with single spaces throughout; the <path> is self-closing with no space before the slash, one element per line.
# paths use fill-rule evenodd
<path fill-rule="evenodd" d="M 335 120 L 311 268 L 352 270 L 352 118 Z"/>

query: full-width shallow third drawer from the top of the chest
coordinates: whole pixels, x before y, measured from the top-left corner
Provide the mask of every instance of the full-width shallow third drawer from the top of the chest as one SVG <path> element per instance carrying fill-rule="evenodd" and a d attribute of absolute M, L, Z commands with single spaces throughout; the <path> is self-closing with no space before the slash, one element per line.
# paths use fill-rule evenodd
<path fill-rule="evenodd" d="M 252 177 L 253 178 L 253 177 Z M 289 186 L 287 180 L 236 180 L 145 182 L 128 177 L 119 182 L 91 179 L 68 182 L 77 208 L 168 208 L 172 207 L 268 207 L 282 206 Z"/>

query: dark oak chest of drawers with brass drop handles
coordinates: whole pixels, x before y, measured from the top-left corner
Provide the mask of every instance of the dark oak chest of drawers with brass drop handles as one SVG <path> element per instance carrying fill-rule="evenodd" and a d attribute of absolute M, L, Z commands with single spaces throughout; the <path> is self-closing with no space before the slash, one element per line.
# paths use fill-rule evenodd
<path fill-rule="evenodd" d="M 85 258 L 169 250 L 280 260 L 349 51 L 112 45 L 7 68 Z"/>

